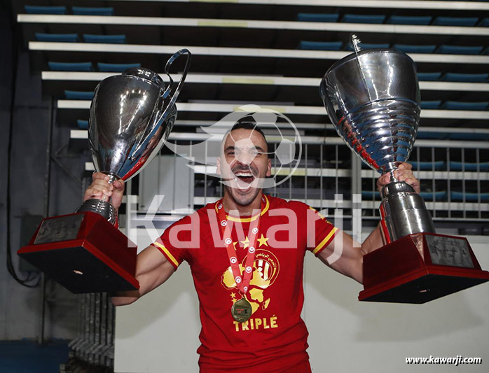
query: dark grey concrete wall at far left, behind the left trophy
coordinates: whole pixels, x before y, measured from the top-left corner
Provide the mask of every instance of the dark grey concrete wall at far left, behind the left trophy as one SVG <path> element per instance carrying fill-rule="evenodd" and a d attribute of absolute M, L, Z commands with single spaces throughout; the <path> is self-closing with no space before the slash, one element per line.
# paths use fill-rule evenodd
<path fill-rule="evenodd" d="M 2 5 L 5 1 L 2 3 Z M 25 279 L 27 272 L 18 270 L 20 227 L 22 217 L 43 215 L 45 212 L 46 147 L 51 115 L 54 112 L 50 98 L 44 98 L 39 71 L 32 72 L 29 53 L 21 48 L 18 58 L 14 50 L 11 13 L 0 6 L 0 340 L 37 339 L 41 328 L 41 288 L 26 288 L 17 283 L 6 269 L 7 237 L 10 237 L 13 265 L 18 276 Z M 20 34 L 18 34 L 20 37 Z M 14 79 L 13 66 L 17 66 Z M 15 85 L 15 105 L 11 96 Z M 13 119 L 10 133 L 11 118 Z M 54 126 L 53 151 L 67 143 L 68 128 Z M 11 192 L 7 194 L 8 140 L 12 139 Z M 74 173 L 81 172 L 83 160 L 63 160 Z M 53 165 L 50 188 L 50 215 L 69 213 L 81 199 L 81 186 L 73 183 L 59 167 Z M 78 174 L 79 176 L 80 174 Z M 10 197 L 11 211 L 7 216 Z M 7 220 L 10 230 L 7 229 Z M 31 232 L 30 234 L 33 234 Z M 29 234 L 29 235 L 30 235 Z M 48 281 L 47 293 L 52 302 L 46 307 L 46 337 L 74 337 L 76 298 L 55 283 Z M 61 300 L 60 300 L 61 299 Z"/>

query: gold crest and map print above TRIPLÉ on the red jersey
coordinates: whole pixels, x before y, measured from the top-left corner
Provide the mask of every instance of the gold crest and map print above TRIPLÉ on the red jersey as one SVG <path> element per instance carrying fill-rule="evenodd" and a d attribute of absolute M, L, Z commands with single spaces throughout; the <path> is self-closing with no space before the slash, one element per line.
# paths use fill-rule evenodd
<path fill-rule="evenodd" d="M 246 257 L 240 264 L 240 271 L 243 273 Z M 253 262 L 252 279 L 249 281 L 247 300 L 252 304 L 252 314 L 259 309 L 265 310 L 270 304 L 270 297 L 267 297 L 266 290 L 273 285 L 280 272 L 280 265 L 277 257 L 268 250 L 257 249 Z M 233 276 L 233 269 L 228 267 L 221 276 L 221 283 L 227 290 L 235 290 L 230 294 L 231 302 L 240 299 L 237 292 L 236 283 Z"/>

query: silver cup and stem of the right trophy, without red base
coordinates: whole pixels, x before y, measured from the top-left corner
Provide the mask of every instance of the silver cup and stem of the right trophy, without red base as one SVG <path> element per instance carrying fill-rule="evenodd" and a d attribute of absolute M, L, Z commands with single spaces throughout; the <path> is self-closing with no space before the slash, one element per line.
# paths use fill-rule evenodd
<path fill-rule="evenodd" d="M 381 191 L 385 243 L 435 232 L 425 202 L 394 171 L 406 162 L 420 121 L 420 90 L 413 60 L 397 50 L 360 50 L 331 66 L 320 93 L 338 134 L 369 167 L 390 174 Z"/>

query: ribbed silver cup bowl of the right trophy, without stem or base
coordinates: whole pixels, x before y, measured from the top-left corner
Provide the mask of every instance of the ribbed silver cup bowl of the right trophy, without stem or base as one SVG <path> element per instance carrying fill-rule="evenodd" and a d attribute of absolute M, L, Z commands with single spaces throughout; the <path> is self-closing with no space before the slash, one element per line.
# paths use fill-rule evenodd
<path fill-rule="evenodd" d="M 411 57 L 392 49 L 356 49 L 326 71 L 320 94 L 336 131 L 366 164 L 385 172 L 406 162 L 420 119 Z"/>

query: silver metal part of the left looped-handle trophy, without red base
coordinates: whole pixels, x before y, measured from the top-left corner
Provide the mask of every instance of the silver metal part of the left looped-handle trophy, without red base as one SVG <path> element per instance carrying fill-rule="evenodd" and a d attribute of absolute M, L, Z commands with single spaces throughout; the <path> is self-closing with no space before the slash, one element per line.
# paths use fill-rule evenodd
<path fill-rule="evenodd" d="M 176 88 L 168 70 L 187 55 L 184 73 Z M 165 65 L 167 86 L 157 73 L 132 68 L 102 80 L 90 106 L 88 139 L 97 172 L 110 176 L 109 183 L 136 176 L 165 143 L 177 118 L 175 101 L 190 65 L 191 53 L 182 49 Z M 173 92 L 172 92 L 173 90 Z M 118 224 L 117 211 L 102 199 L 88 199 L 76 212 L 92 211 Z"/>

